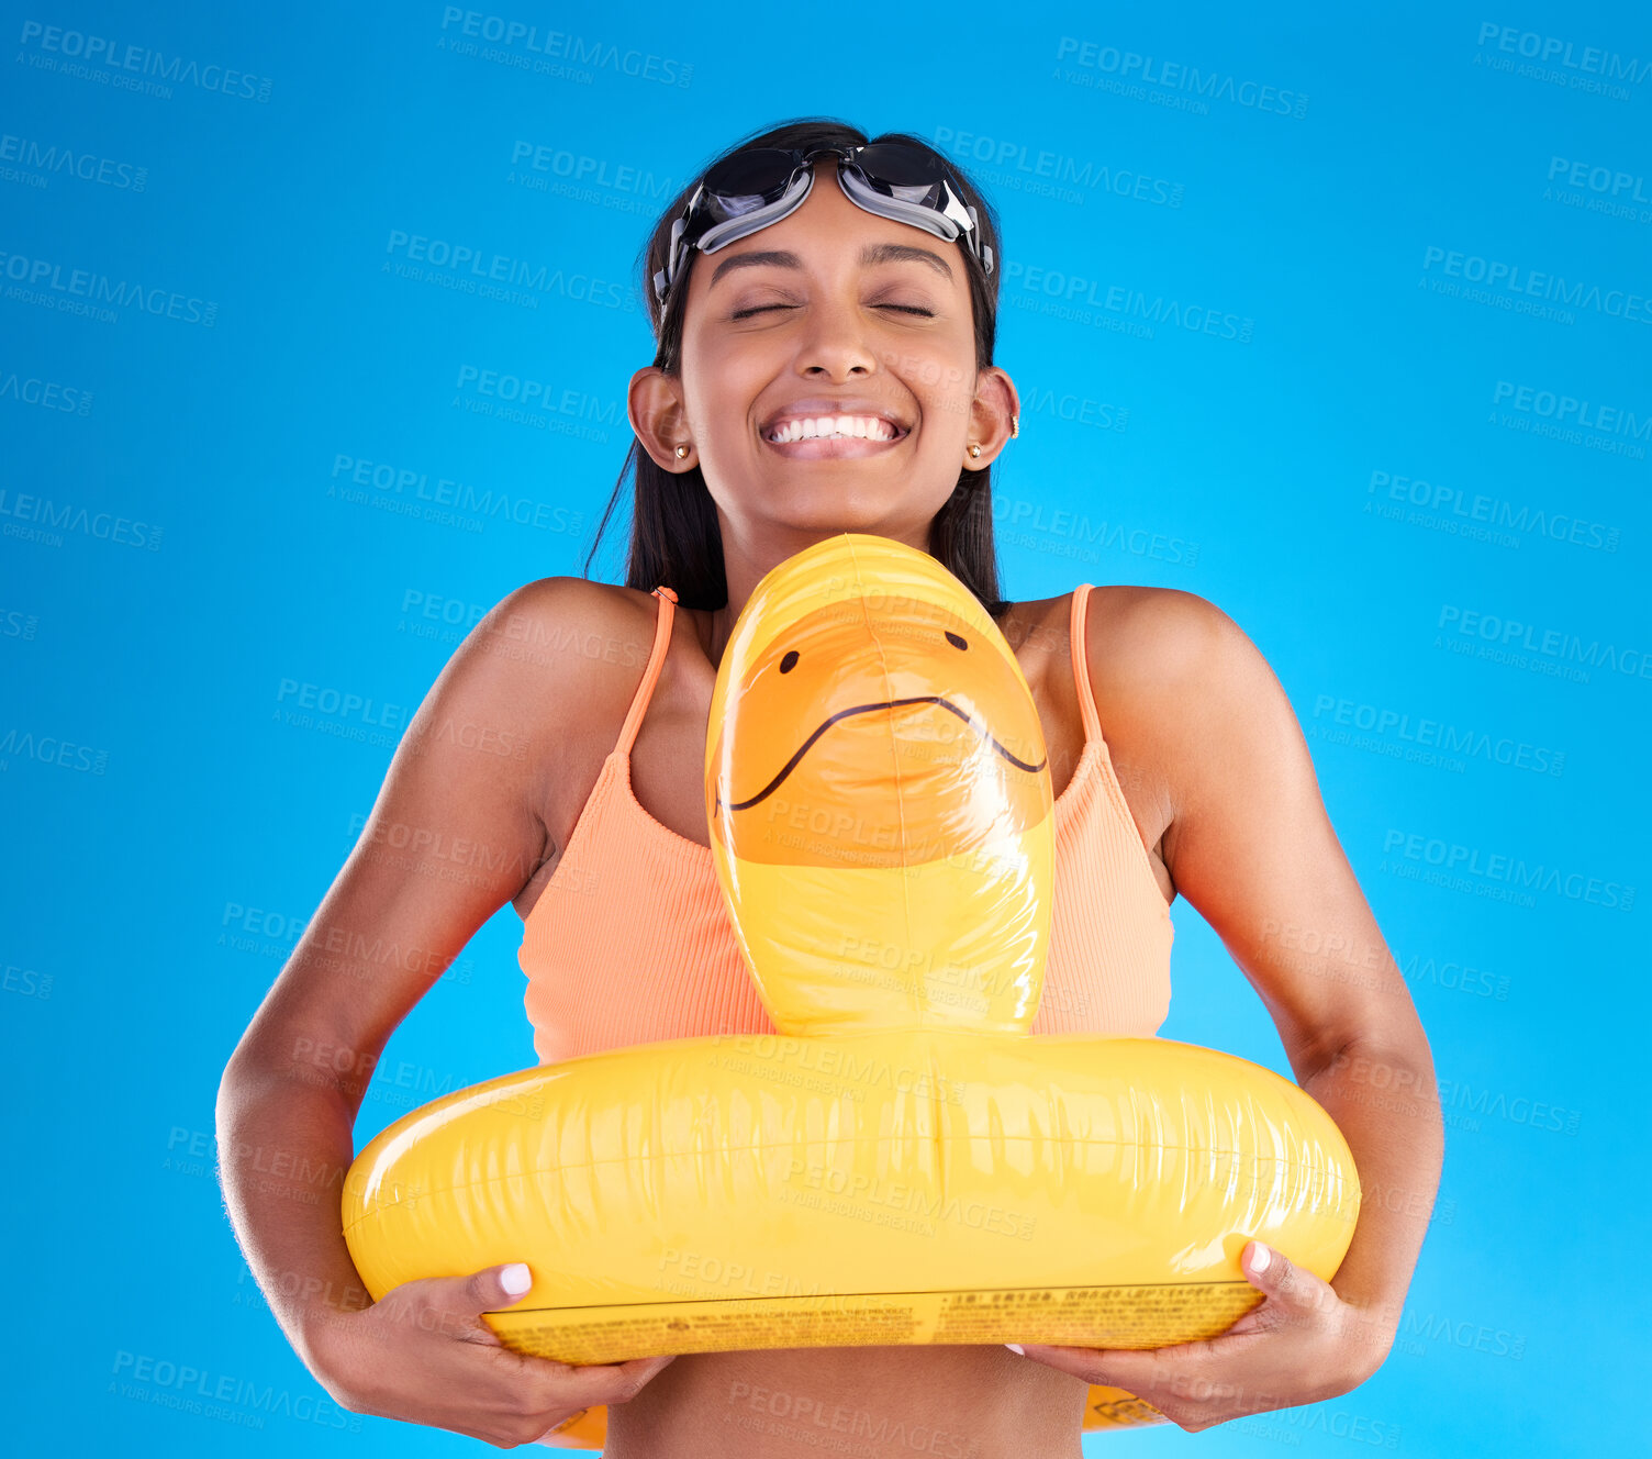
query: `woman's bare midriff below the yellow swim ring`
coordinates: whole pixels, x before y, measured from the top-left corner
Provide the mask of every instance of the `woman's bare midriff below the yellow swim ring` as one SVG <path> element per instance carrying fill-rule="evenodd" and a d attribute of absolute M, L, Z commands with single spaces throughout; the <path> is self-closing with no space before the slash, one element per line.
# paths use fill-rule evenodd
<path fill-rule="evenodd" d="M 1003 1345 L 684 1353 L 605 1459 L 1080 1459 L 1089 1385 Z"/>

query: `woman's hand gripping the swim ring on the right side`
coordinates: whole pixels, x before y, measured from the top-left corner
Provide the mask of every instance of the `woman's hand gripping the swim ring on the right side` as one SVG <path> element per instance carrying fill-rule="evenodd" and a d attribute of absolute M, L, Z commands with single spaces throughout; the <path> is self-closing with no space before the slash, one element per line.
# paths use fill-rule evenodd
<path fill-rule="evenodd" d="M 1393 1330 L 1343 1302 L 1328 1282 L 1260 1241 L 1246 1246 L 1241 1269 L 1264 1300 L 1219 1337 L 1143 1350 L 1021 1348 L 1087 1383 L 1128 1390 L 1189 1434 L 1247 1413 L 1336 1398 L 1383 1365 Z"/>

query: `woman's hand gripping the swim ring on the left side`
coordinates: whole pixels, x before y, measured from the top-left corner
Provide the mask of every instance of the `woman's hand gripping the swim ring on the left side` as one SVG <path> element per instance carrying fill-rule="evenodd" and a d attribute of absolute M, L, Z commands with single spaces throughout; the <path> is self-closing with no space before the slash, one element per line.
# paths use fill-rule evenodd
<path fill-rule="evenodd" d="M 430 1424 L 496 1449 L 532 1444 L 598 1404 L 626 1403 L 672 1357 L 573 1366 L 507 1348 L 482 1320 L 520 1302 L 504 1276 L 520 1262 L 468 1277 L 403 1282 L 316 1338 L 317 1380 L 350 1413 Z"/>

